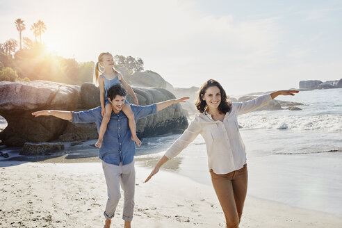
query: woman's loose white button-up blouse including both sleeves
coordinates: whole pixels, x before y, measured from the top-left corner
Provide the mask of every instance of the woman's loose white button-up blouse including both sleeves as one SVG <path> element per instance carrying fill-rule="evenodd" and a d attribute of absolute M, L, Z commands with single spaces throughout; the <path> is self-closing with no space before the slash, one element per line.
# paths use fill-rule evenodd
<path fill-rule="evenodd" d="M 177 156 L 200 133 L 206 142 L 209 170 L 216 174 L 227 174 L 243 168 L 246 163 L 245 145 L 238 131 L 238 115 L 249 113 L 267 104 L 272 97 L 263 95 L 250 101 L 231 104 L 223 122 L 213 120 L 209 113 L 197 113 L 172 146 L 165 152 L 169 159 Z"/>

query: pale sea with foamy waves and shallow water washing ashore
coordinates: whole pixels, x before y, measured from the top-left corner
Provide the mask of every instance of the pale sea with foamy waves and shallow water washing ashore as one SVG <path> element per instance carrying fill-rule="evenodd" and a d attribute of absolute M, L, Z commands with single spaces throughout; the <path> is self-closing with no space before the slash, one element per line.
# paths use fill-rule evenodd
<path fill-rule="evenodd" d="M 247 153 L 247 195 L 342 217 L 342 88 L 276 99 L 300 102 L 302 110 L 238 117 Z M 163 156 L 179 136 L 143 139 L 138 158 Z M 168 170 L 211 185 L 202 136 L 174 160 Z"/>

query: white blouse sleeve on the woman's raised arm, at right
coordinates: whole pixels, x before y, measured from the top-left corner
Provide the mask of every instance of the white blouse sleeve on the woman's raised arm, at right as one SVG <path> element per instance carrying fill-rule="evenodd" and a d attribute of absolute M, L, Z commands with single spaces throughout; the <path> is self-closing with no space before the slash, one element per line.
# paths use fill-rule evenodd
<path fill-rule="evenodd" d="M 236 115 L 242 115 L 245 113 L 250 113 L 260 108 L 261 106 L 268 104 L 268 102 L 270 102 L 271 100 L 272 97 L 270 95 L 263 95 L 250 101 L 232 103 L 232 105 L 234 106 Z"/>

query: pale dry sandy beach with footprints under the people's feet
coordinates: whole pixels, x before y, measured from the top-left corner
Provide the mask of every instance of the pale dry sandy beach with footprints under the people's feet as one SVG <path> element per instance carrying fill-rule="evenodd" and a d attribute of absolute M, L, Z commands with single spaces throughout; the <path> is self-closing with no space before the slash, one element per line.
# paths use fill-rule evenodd
<path fill-rule="evenodd" d="M 102 227 L 101 163 L 1 161 L 0 227 Z M 225 227 L 211 186 L 136 165 L 133 227 Z M 111 227 L 123 227 L 122 200 Z M 248 196 L 240 227 L 341 227 L 342 218 Z"/>

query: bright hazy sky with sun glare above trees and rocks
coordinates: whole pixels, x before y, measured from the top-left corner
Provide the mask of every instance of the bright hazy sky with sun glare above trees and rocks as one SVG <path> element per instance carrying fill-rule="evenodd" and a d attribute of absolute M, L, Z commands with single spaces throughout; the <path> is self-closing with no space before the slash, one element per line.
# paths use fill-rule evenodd
<path fill-rule="evenodd" d="M 0 42 L 41 19 L 65 58 L 103 51 L 144 60 L 174 87 L 218 80 L 229 95 L 342 78 L 342 1 L 0 0 Z"/>

